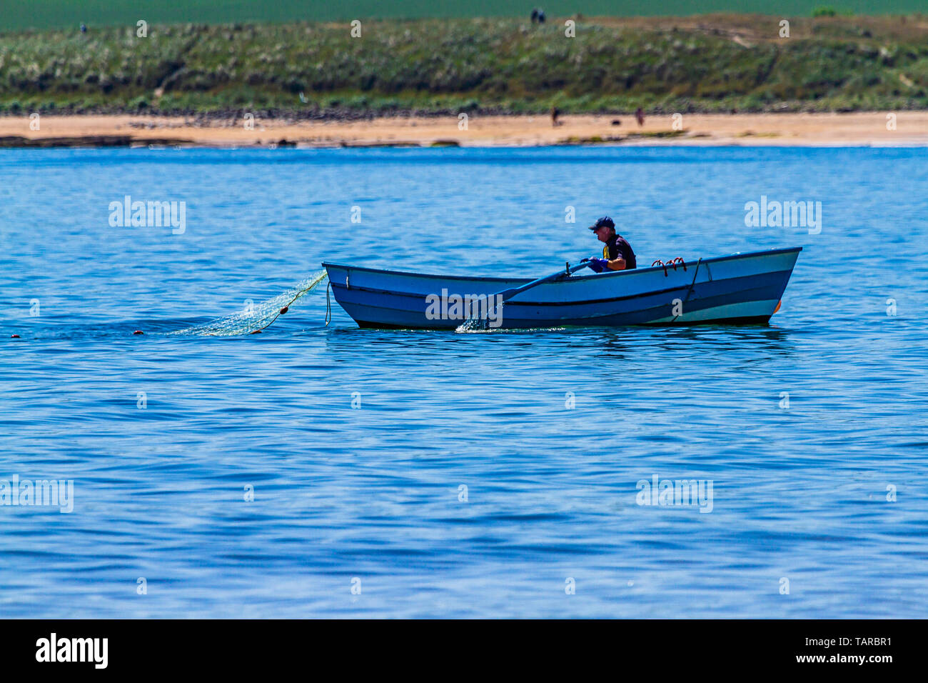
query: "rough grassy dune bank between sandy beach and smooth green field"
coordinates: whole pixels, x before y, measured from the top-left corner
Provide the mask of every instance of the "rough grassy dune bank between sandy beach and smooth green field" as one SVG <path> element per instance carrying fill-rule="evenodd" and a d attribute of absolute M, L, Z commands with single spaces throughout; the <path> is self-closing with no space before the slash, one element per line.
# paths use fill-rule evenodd
<path fill-rule="evenodd" d="M 928 17 L 366 21 L 0 34 L 0 112 L 928 108 Z"/>

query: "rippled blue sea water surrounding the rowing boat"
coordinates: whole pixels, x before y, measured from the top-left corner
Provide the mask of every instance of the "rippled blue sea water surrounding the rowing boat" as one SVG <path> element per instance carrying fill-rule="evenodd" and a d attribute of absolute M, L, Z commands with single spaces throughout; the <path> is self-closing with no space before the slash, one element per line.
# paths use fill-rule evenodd
<path fill-rule="evenodd" d="M 7 150 L 0 177 L 0 479 L 73 481 L 71 513 L 0 506 L 0 616 L 926 615 L 926 150 Z M 111 227 L 125 195 L 186 230 Z M 762 195 L 820 232 L 746 227 Z M 324 259 L 540 276 L 605 213 L 641 265 L 805 250 L 768 327 L 326 327 L 320 286 L 261 335 L 164 334 Z M 711 512 L 639 505 L 655 476 Z"/>

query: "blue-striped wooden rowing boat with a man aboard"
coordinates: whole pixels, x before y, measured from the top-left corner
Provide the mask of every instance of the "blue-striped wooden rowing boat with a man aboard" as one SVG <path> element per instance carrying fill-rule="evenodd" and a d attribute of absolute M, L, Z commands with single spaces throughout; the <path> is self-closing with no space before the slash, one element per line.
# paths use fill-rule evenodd
<path fill-rule="evenodd" d="M 780 308 L 800 251 L 676 259 L 599 274 L 568 268 L 539 281 L 322 265 L 335 300 L 360 327 L 456 329 L 474 318 L 503 329 L 766 324 Z"/>

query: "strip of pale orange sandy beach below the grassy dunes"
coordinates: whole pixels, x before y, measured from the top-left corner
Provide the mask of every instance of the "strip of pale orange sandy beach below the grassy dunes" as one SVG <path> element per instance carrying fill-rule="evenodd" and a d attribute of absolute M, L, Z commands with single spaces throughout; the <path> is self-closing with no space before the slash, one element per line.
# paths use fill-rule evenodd
<path fill-rule="evenodd" d="M 647 116 L 382 117 L 357 121 L 196 120 L 135 115 L 0 117 L 0 146 L 203 147 L 646 145 L 928 145 L 928 112 L 737 113 Z M 464 125 L 466 123 L 466 126 Z M 34 130 L 37 125 L 38 130 Z M 895 129 L 893 129 L 895 127 Z"/>

